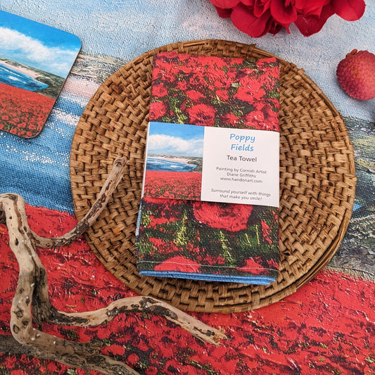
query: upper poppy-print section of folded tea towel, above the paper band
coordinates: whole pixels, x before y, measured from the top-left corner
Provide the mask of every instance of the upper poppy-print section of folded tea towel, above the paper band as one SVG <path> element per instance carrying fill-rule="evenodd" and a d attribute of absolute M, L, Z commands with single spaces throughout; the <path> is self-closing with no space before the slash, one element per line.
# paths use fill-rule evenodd
<path fill-rule="evenodd" d="M 249 124 L 246 117 L 255 112 L 253 117 L 278 123 L 279 64 L 276 58 L 246 61 L 158 53 L 151 93 L 151 121 L 260 129 L 261 120 Z M 234 114 L 236 121 L 230 123 Z"/>

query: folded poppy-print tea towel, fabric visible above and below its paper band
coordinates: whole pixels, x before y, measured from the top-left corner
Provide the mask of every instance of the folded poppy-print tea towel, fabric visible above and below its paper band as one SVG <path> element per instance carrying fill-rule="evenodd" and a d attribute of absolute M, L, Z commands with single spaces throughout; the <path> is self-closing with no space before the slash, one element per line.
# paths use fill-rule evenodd
<path fill-rule="evenodd" d="M 279 63 L 158 53 L 149 120 L 279 132 Z M 189 200 L 189 192 L 186 199 L 144 196 L 138 221 L 140 274 L 264 285 L 277 279 L 276 207 Z"/>

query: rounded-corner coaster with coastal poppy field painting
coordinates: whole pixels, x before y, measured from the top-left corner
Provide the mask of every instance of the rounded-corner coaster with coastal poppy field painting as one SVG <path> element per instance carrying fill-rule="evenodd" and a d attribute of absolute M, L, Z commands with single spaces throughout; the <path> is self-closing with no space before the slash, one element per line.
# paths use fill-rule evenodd
<path fill-rule="evenodd" d="M 0 11 L 1 130 L 42 131 L 80 49 L 73 34 Z"/>

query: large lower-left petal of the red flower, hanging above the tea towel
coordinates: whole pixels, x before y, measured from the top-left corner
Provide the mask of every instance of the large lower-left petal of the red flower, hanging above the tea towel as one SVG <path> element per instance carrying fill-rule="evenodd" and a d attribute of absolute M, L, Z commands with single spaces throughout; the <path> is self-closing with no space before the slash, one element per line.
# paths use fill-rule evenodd
<path fill-rule="evenodd" d="M 260 17 L 255 17 L 253 11 L 241 3 L 231 13 L 233 25 L 253 38 L 267 34 L 270 27 L 268 22 L 270 17 L 270 11 L 263 13 Z"/>

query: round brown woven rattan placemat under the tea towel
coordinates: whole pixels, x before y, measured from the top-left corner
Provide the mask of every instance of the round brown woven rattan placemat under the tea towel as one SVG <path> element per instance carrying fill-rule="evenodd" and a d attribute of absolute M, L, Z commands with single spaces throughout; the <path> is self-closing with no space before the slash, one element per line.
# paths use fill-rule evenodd
<path fill-rule="evenodd" d="M 281 63 L 279 279 L 269 286 L 140 277 L 134 257 L 153 54 L 273 56 L 253 45 L 222 40 L 170 44 L 148 51 L 98 88 L 77 125 L 70 155 L 75 214 L 96 200 L 118 156 L 129 158 L 125 177 L 87 241 L 103 265 L 141 295 L 182 310 L 240 312 L 277 302 L 312 279 L 336 252 L 352 213 L 355 165 L 338 111 L 302 69 Z"/>

